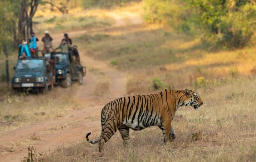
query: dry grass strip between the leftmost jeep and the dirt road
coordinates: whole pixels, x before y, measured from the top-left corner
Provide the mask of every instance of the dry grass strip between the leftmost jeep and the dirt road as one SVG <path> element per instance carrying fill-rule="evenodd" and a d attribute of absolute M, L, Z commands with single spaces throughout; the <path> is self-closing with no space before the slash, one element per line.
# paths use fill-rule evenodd
<path fill-rule="evenodd" d="M 0 105 L 0 133 L 30 123 L 63 117 L 68 110 L 79 109 L 80 106 L 71 98 L 75 89 L 76 86 L 73 85 L 68 89 L 57 87 L 54 92 L 46 95 L 5 95 Z M 69 93 L 63 93 L 64 91 Z"/>

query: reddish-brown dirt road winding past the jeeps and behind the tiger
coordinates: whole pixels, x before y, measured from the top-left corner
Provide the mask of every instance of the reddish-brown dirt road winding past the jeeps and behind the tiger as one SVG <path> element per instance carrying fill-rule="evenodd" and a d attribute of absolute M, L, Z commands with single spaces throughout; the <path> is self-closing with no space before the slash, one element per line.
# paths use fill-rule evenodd
<path fill-rule="evenodd" d="M 122 15 L 126 16 L 124 17 Z M 136 16 L 129 12 L 124 12 L 122 15 L 114 12 L 109 14 L 116 21 L 114 26 L 125 26 L 128 19 L 130 24 L 142 23 L 142 19 L 138 15 Z M 86 32 L 89 31 L 74 31 L 69 32 L 69 35 L 72 35 L 74 38 Z M 58 45 L 62 36 L 63 33 L 52 34 L 52 37 L 56 40 L 53 44 Z M 35 134 L 41 140 L 34 141 L 33 146 L 36 147 L 37 152 L 46 153 L 54 150 L 63 143 L 83 141 L 88 132 L 100 134 L 100 112 L 104 106 L 103 103 L 126 95 L 126 75 L 104 62 L 86 56 L 84 53 L 85 50 L 82 47 L 79 50 L 81 62 L 87 67 L 87 75 L 84 77 L 84 83 L 79 87 L 74 98 L 78 101 L 78 104 L 89 106 L 85 106 L 81 110 L 69 111 L 65 117 L 59 120 L 34 123 L 13 131 L 8 131 L 0 136 L 0 145 L 30 139 Z M 108 96 L 104 96 L 104 102 L 98 102 L 95 98 L 91 97 L 92 87 L 95 85 L 98 76 L 93 74 L 90 69 L 98 69 L 110 79 L 110 92 Z M 21 161 L 23 155 L 27 156 L 27 146 L 20 146 L 10 154 L 0 155 L 0 161 Z"/>

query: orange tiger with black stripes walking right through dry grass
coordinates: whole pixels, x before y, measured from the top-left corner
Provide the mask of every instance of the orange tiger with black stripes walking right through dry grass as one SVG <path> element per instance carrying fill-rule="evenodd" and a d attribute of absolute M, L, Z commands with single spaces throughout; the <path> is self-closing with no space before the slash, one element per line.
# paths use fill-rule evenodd
<path fill-rule="evenodd" d="M 197 110 L 203 105 L 198 93 L 192 90 L 163 90 L 150 95 L 122 97 L 107 103 L 101 111 L 101 135 L 95 140 L 86 140 L 91 144 L 99 143 L 99 151 L 104 150 L 105 143 L 118 130 L 125 146 L 131 145 L 130 129 L 139 131 L 146 127 L 158 126 L 163 133 L 164 142 L 173 142 L 176 138 L 171 126 L 177 109 L 191 106 Z"/>

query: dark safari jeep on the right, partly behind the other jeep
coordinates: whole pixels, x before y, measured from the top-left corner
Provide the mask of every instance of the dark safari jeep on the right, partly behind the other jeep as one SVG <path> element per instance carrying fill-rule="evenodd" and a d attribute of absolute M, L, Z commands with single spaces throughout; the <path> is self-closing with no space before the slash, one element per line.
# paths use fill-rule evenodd
<path fill-rule="evenodd" d="M 83 76 L 86 75 L 86 68 L 73 58 L 72 54 L 54 54 L 56 83 L 62 84 L 66 88 L 71 86 L 72 80 L 77 80 L 80 84 L 83 82 Z"/>

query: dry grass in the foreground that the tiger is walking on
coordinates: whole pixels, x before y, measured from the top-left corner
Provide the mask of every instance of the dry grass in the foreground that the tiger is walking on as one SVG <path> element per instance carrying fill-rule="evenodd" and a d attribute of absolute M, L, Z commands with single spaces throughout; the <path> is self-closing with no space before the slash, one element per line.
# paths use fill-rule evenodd
<path fill-rule="evenodd" d="M 163 143 L 160 129 L 152 127 L 131 131 L 130 148 L 116 133 L 103 156 L 97 144 L 82 142 L 59 147 L 48 161 L 255 161 L 255 81 L 238 79 L 209 92 L 199 88 L 204 106 L 177 111 L 173 122 L 177 137 L 170 145 Z"/>

